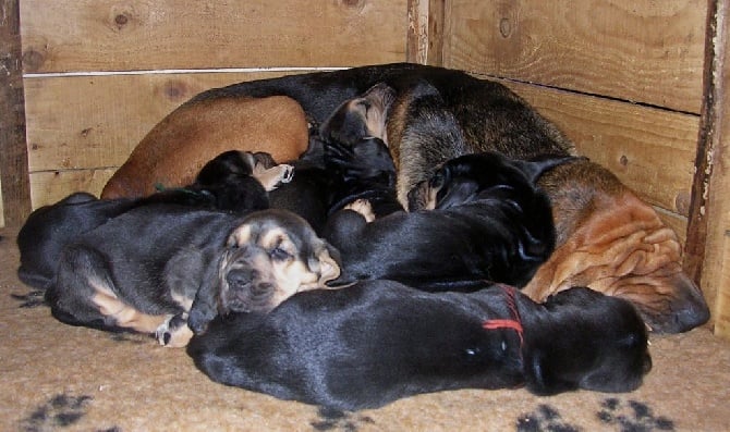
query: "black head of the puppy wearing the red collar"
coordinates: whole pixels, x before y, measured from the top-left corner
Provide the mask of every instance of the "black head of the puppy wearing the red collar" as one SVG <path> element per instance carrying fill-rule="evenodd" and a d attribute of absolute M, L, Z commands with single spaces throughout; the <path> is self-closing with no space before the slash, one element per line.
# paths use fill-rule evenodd
<path fill-rule="evenodd" d="M 575 287 L 548 298 L 544 309 L 522 313 L 532 392 L 630 392 L 652 369 L 646 326 L 630 303 Z"/>

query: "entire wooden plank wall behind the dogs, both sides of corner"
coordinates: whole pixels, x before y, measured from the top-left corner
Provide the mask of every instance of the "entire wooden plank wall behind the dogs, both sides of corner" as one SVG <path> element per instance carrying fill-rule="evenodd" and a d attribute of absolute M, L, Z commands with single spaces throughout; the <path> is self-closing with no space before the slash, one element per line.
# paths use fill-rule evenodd
<path fill-rule="evenodd" d="M 155 123 L 206 88 L 403 60 L 463 69 L 503 81 L 657 208 L 730 336 L 730 0 L 0 2 L 20 4 L 34 208 L 99 193 Z M 3 182 L 24 176 L 0 162 Z M 19 202 L 5 197 L 5 214 Z"/>

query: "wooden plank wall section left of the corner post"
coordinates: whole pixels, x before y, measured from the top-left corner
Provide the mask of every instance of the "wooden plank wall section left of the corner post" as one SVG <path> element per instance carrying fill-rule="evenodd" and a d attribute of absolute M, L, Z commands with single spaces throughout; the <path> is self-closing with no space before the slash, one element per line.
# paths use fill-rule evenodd
<path fill-rule="evenodd" d="M 100 193 L 153 125 L 204 89 L 404 60 L 406 0 L 309 3 L 20 1 L 33 207 Z"/>

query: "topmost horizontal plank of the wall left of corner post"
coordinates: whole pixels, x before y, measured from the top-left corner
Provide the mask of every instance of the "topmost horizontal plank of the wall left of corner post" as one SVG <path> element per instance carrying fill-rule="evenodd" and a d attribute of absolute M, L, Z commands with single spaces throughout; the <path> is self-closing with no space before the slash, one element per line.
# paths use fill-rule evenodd
<path fill-rule="evenodd" d="M 406 0 L 23 0 L 26 72 L 403 61 Z"/>

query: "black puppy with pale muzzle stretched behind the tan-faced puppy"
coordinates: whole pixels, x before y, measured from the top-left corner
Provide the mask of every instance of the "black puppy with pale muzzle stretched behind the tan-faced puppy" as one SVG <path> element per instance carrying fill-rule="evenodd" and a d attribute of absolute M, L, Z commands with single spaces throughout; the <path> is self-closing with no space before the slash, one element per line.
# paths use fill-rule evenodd
<path fill-rule="evenodd" d="M 75 193 L 36 209 L 17 234 L 23 283 L 45 289 L 56 274 L 65 245 L 83 233 L 136 207 L 169 202 L 233 212 L 268 208 L 266 190 L 291 180 L 290 165 L 273 164 L 267 153 L 227 151 L 205 164 L 187 187 L 158 192 L 145 198 L 100 200 Z"/>

